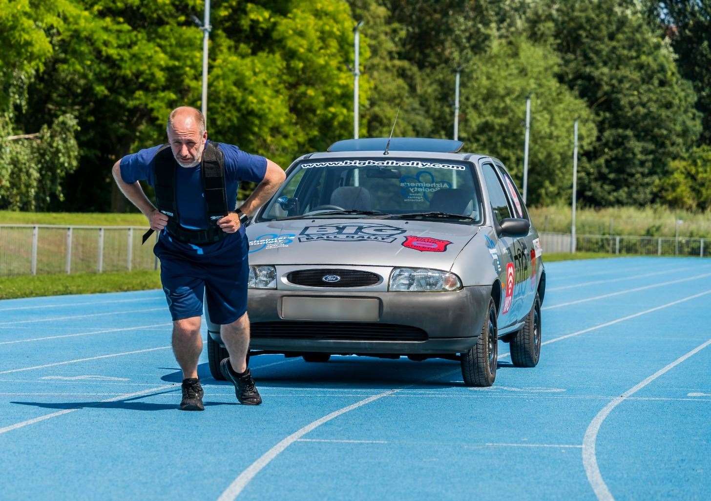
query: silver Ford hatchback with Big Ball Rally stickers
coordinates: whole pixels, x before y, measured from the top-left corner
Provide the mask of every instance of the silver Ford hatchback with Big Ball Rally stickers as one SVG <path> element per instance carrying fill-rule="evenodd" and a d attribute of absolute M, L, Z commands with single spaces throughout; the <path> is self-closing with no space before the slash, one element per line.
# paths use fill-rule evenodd
<path fill-rule="evenodd" d="M 538 233 L 503 164 L 461 146 L 353 139 L 297 158 L 247 222 L 252 355 L 444 357 L 466 384 L 491 386 L 503 340 L 513 365 L 534 367 Z M 223 379 L 228 355 L 207 320 Z"/>

